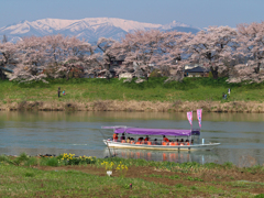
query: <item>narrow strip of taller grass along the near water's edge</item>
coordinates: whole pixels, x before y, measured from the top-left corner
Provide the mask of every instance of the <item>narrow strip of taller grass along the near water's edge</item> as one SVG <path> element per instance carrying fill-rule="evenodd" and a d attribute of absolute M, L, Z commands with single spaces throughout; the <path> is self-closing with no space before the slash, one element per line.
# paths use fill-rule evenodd
<path fill-rule="evenodd" d="M 196 162 L 187 162 L 187 163 L 175 163 L 175 162 L 155 162 L 155 161 L 145 161 L 142 158 L 121 158 L 121 157 L 112 157 L 112 158 L 96 158 L 96 157 L 88 157 L 84 156 L 82 160 L 79 157 L 73 157 L 73 160 L 66 158 L 62 160 L 64 155 L 59 155 L 57 157 L 30 157 L 25 153 L 20 154 L 18 157 L 7 156 L 7 155 L 0 155 L 0 163 L 9 164 L 9 165 L 23 165 L 23 166 L 34 166 L 34 165 L 42 165 L 42 166 L 66 166 L 66 165 L 86 165 L 86 164 L 92 164 L 96 167 L 105 167 L 102 166 L 103 162 L 113 163 L 116 166 L 118 164 L 125 165 L 128 167 L 130 166 L 147 166 L 147 167 L 154 167 L 156 169 L 163 169 L 163 170 L 169 170 L 175 173 L 200 173 L 204 170 L 209 169 L 233 169 L 238 172 L 248 172 L 251 174 L 257 174 L 257 173 L 264 173 L 264 166 L 256 165 L 252 167 L 243 167 L 240 168 L 235 165 L 233 165 L 230 162 L 227 162 L 224 164 L 216 164 L 216 163 L 206 163 L 206 164 L 199 164 Z M 70 163 L 73 162 L 73 163 Z M 116 167 L 114 166 L 114 167 Z M 153 175 L 155 177 L 155 175 Z M 158 176 L 157 176 L 158 177 Z M 220 177 L 219 175 L 216 175 L 216 177 Z M 177 179 L 179 176 L 173 175 L 168 178 Z M 199 180 L 197 178 L 186 177 L 188 180 Z"/>

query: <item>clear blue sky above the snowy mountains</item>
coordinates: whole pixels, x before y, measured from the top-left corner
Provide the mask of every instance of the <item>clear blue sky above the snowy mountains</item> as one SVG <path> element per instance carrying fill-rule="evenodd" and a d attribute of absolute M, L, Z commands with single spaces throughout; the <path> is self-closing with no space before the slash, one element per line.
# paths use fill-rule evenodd
<path fill-rule="evenodd" d="M 262 22 L 264 0 L 0 0 L 0 28 L 22 20 L 120 18 L 196 28 Z"/>

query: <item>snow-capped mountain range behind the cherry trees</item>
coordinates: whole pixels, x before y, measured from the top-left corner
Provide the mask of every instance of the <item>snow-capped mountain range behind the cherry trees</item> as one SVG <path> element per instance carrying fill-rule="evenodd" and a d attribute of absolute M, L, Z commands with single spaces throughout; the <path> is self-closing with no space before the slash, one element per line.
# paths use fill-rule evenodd
<path fill-rule="evenodd" d="M 61 33 L 66 36 L 75 35 L 89 42 L 96 42 L 99 37 L 120 40 L 128 32 L 150 29 L 158 29 L 161 31 L 178 30 L 193 33 L 199 31 L 197 28 L 176 21 L 162 25 L 117 18 L 86 18 L 81 20 L 42 19 L 32 22 L 24 20 L 0 28 L 0 37 L 6 34 L 9 41 L 16 42 L 23 36 L 44 36 Z"/>

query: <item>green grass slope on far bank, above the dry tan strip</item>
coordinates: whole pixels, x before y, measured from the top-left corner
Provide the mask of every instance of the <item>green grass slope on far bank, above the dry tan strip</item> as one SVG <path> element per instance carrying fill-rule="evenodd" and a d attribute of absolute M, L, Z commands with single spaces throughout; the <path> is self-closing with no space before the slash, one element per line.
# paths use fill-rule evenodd
<path fill-rule="evenodd" d="M 50 84 L 16 84 L 0 80 L 0 99 L 12 101 L 94 101 L 94 100 L 141 100 L 141 101 L 222 101 L 222 92 L 231 88 L 226 101 L 263 101 L 264 82 L 228 84 L 227 78 L 185 78 L 183 82 L 164 84 L 166 78 L 150 78 L 148 82 L 125 82 L 117 78 L 107 79 L 50 79 Z M 66 96 L 57 97 L 57 88 Z"/>

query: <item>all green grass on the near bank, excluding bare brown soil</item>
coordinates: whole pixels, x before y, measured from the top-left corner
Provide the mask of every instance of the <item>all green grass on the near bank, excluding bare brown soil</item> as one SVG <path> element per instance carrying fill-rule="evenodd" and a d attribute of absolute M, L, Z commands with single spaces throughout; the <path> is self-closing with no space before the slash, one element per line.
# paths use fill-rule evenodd
<path fill-rule="evenodd" d="M 160 169 L 156 174 L 142 175 L 141 178 L 108 177 L 96 174 L 86 174 L 77 170 L 56 170 L 63 155 L 58 157 L 30 157 L 22 153 L 19 157 L 0 155 L 0 197 L 253 197 L 252 194 L 241 191 L 241 189 L 262 188 L 263 183 L 252 183 L 243 180 L 233 182 L 205 182 L 197 176 L 190 176 L 199 170 L 212 169 L 215 173 L 220 169 L 232 169 L 235 172 L 257 172 L 263 174 L 263 166 L 239 168 L 231 163 L 219 164 L 198 164 L 198 163 L 172 163 L 172 162 L 148 162 L 145 160 L 125 160 L 125 158 L 92 158 L 87 161 L 89 168 L 102 167 L 102 162 L 113 162 L 129 167 L 139 166 L 154 167 Z M 34 158 L 34 160 L 33 160 Z M 89 158 L 89 157 L 87 157 Z M 16 163 L 14 163 L 16 162 Z M 19 163 L 18 163 L 19 162 Z M 91 163 L 92 162 L 92 163 Z M 54 170 L 41 170 L 34 165 L 55 166 Z M 33 167 L 32 167 L 33 166 Z M 169 169 L 170 168 L 170 169 Z M 169 173 L 158 175 L 158 173 Z M 180 172 L 182 176 L 175 174 Z M 189 174 L 189 175 L 187 175 Z M 235 175 L 235 173 L 234 173 Z M 218 175 L 216 175 L 218 176 Z M 202 177 L 202 176 L 201 176 Z M 175 185 L 165 185 L 148 179 L 172 179 Z M 187 183 L 186 183 L 187 182 Z M 191 183 L 191 185 L 187 185 Z M 133 185 L 130 189 L 130 184 Z M 220 186 L 227 186 L 230 189 L 222 189 Z M 261 195 L 260 195 L 261 196 Z"/>

